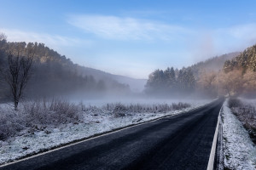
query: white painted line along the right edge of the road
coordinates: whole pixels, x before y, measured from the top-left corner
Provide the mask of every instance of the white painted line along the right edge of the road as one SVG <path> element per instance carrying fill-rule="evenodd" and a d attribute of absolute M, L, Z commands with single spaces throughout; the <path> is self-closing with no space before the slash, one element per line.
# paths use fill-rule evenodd
<path fill-rule="evenodd" d="M 213 170 L 213 167 L 214 167 L 214 160 L 215 160 L 217 139 L 218 139 L 218 128 L 219 128 L 219 122 L 220 122 L 220 112 L 222 111 L 222 107 L 223 107 L 223 105 L 221 106 L 220 111 L 218 113 L 218 122 L 217 122 L 217 126 L 215 129 L 214 137 L 212 140 L 212 149 L 211 149 L 211 153 L 210 153 L 210 157 L 209 157 L 209 161 L 208 161 L 208 165 L 207 165 L 207 170 Z"/>

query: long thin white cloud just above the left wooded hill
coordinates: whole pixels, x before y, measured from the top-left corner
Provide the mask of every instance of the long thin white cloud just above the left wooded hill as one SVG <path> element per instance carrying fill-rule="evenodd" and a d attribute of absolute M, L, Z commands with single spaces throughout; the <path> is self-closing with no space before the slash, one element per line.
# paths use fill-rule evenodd
<path fill-rule="evenodd" d="M 76 46 L 81 43 L 83 45 L 90 45 L 92 42 L 82 40 L 79 38 L 63 37 L 59 35 L 50 35 L 45 33 L 20 31 L 14 29 L 0 28 L 0 32 L 7 35 L 9 42 L 43 42 L 50 48 L 63 47 L 63 46 Z"/>

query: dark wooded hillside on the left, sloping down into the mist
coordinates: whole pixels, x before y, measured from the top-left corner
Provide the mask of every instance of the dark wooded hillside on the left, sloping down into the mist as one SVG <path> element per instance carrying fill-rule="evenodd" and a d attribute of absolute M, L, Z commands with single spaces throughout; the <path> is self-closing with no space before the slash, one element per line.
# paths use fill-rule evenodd
<path fill-rule="evenodd" d="M 26 99 L 68 94 L 86 97 L 111 91 L 119 94 L 130 91 L 129 86 L 109 78 L 103 80 L 87 75 L 81 71 L 80 65 L 73 64 L 65 55 L 45 47 L 44 43 L 7 42 L 4 34 L 0 36 L 0 68 L 2 101 L 8 101 L 14 96 L 18 101 L 23 96 L 23 90 L 26 91 Z"/>

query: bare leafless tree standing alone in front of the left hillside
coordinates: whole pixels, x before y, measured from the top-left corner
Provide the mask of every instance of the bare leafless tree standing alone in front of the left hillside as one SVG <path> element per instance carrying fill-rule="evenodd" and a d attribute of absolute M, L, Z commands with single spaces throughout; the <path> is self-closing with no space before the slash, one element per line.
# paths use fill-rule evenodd
<path fill-rule="evenodd" d="M 17 110 L 24 88 L 32 70 L 35 46 L 13 49 L 8 55 L 8 68 L 4 71 L 4 79 L 9 84 L 11 96 Z"/>

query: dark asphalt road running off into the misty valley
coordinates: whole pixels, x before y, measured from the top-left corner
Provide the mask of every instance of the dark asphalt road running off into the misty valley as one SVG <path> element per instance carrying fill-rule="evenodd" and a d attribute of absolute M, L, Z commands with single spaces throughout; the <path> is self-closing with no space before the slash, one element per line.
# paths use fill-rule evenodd
<path fill-rule="evenodd" d="M 207 169 L 223 99 L 0 169 Z"/>

